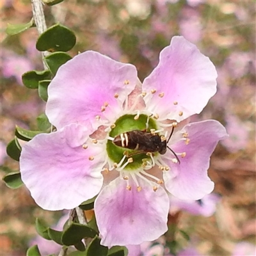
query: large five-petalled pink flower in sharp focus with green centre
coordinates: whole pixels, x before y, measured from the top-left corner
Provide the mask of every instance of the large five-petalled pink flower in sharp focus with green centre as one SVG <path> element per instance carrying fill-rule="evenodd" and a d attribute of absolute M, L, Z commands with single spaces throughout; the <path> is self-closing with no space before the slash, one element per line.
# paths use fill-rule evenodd
<path fill-rule="evenodd" d="M 214 188 L 207 169 L 225 128 L 215 120 L 187 124 L 185 119 L 200 113 L 214 95 L 216 76 L 209 58 L 182 36 L 163 49 L 143 84 L 133 65 L 98 52 L 68 61 L 49 85 L 46 115 L 57 131 L 35 136 L 20 156 L 22 180 L 36 203 L 48 210 L 72 209 L 98 195 L 95 216 L 103 245 L 157 239 L 167 230 L 166 190 L 198 200 Z M 164 145 L 174 131 L 168 141 L 172 150 L 127 153 L 125 132 L 147 126 L 150 146 L 154 139 Z M 124 147 L 114 145 L 118 135 Z"/>

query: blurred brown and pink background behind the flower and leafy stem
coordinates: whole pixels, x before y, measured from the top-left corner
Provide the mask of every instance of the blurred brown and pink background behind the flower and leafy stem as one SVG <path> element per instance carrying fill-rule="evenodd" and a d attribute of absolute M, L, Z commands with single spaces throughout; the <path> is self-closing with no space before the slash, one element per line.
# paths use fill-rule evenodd
<path fill-rule="evenodd" d="M 4 32 L 7 23 L 29 22 L 31 3 L 1 0 L 0 8 L 3 178 L 19 170 L 19 163 L 5 152 L 15 125 L 36 130 L 36 117 L 44 113 L 45 103 L 37 90 L 29 90 L 21 81 L 24 72 L 43 69 L 35 49 L 36 28 L 15 36 Z M 214 193 L 221 197 L 212 216 L 176 211 L 170 221 L 190 237 L 188 241 L 177 235 L 179 243 L 192 246 L 198 255 L 255 255 L 255 1 L 67 0 L 44 10 L 48 27 L 61 22 L 76 34 L 71 56 L 99 51 L 134 64 L 141 81 L 156 67 L 159 52 L 174 35 L 183 35 L 209 56 L 218 70 L 218 92 L 192 119 L 219 120 L 230 135 L 219 143 L 209 169 Z M 63 212 L 44 211 L 24 186 L 9 189 L 1 182 L 0 214 L 1 255 L 15 256 L 26 255 L 35 239 L 36 217 L 54 225 Z"/>

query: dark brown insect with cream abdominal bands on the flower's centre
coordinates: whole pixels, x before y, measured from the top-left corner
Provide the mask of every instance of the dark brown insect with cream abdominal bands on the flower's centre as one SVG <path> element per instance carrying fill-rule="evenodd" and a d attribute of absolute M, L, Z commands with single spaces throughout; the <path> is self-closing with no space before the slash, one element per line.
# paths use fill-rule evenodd
<path fill-rule="evenodd" d="M 119 134 L 114 138 L 113 143 L 118 147 L 129 148 L 137 151 L 129 156 L 145 154 L 148 152 L 159 152 L 159 154 L 163 155 L 166 153 L 168 148 L 180 163 L 179 157 L 175 154 L 172 148 L 168 147 L 167 145 L 172 137 L 173 130 L 174 127 L 172 127 L 172 132 L 170 133 L 168 140 L 166 140 L 164 136 L 147 132 L 146 130 L 133 130 Z"/>

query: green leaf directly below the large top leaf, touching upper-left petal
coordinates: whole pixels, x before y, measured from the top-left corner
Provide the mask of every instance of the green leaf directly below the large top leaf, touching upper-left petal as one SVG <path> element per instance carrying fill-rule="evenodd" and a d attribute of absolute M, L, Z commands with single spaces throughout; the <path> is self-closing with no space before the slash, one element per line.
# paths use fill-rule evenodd
<path fill-rule="evenodd" d="M 54 52 L 44 58 L 49 70 L 55 76 L 61 65 L 72 58 L 66 52 Z"/>

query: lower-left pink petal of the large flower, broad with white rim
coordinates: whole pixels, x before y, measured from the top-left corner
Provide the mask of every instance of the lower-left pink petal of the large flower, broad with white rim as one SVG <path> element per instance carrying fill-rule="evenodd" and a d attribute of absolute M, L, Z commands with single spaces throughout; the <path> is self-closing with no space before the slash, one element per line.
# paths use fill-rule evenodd
<path fill-rule="evenodd" d="M 43 209 L 72 209 L 99 193 L 104 153 L 99 143 L 82 147 L 88 140 L 86 134 L 85 127 L 71 124 L 51 134 L 39 134 L 22 147 L 21 178 Z"/>

